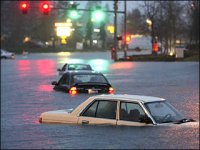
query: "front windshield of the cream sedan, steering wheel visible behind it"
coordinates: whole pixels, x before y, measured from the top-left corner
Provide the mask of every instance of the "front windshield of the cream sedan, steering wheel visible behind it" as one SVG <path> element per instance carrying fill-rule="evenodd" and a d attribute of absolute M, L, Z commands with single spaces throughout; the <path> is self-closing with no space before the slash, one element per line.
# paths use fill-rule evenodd
<path fill-rule="evenodd" d="M 146 108 L 156 123 L 177 122 L 184 118 L 172 105 L 166 101 L 145 103 Z"/>

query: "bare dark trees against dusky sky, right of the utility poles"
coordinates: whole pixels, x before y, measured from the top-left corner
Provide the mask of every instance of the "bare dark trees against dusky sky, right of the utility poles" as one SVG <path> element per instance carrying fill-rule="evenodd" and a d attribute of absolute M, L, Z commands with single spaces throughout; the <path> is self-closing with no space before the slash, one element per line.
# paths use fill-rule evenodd
<path fill-rule="evenodd" d="M 140 8 L 128 14 L 128 32 L 150 34 L 152 42 L 157 38 L 166 53 L 177 40 L 199 50 L 199 1 L 144 1 Z M 146 19 L 151 20 L 150 28 Z"/>

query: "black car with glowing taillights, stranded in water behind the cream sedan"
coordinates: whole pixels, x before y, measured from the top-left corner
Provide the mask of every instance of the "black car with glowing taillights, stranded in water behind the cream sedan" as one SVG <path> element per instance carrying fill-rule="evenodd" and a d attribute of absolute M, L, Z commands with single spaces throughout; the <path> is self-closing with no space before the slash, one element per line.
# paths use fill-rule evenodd
<path fill-rule="evenodd" d="M 114 94 L 114 88 L 106 77 L 96 71 L 69 71 L 62 75 L 59 81 L 53 81 L 54 90 L 77 93 L 107 93 Z"/>

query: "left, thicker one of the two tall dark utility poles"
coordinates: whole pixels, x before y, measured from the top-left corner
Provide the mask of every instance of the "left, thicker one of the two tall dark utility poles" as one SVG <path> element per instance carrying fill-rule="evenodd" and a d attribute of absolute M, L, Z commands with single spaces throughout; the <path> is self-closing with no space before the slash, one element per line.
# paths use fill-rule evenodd
<path fill-rule="evenodd" d="M 117 43 L 117 10 L 118 10 L 118 0 L 114 0 L 114 61 L 117 61 L 117 48 L 118 48 L 118 43 Z"/>

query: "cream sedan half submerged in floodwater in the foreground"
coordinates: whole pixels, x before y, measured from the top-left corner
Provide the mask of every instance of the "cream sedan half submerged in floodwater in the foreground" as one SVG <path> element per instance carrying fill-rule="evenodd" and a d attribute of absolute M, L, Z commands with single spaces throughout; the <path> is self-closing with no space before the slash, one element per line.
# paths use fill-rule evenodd
<path fill-rule="evenodd" d="M 76 109 L 44 112 L 40 123 L 149 126 L 192 122 L 165 99 L 139 95 L 97 95 Z"/>

